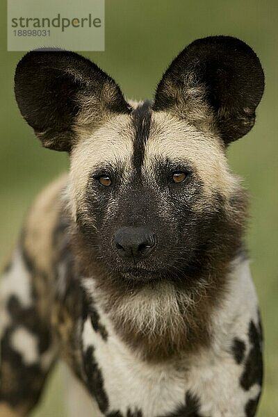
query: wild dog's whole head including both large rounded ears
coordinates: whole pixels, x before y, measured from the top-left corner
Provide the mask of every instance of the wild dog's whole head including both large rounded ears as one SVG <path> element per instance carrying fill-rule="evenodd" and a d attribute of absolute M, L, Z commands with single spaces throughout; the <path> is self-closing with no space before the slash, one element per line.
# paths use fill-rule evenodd
<path fill-rule="evenodd" d="M 113 79 L 66 51 L 22 58 L 15 93 L 42 144 L 70 153 L 70 213 L 110 276 L 174 280 L 234 255 L 245 196 L 225 150 L 250 131 L 263 93 L 244 42 L 193 42 L 153 102 L 129 104 Z"/>

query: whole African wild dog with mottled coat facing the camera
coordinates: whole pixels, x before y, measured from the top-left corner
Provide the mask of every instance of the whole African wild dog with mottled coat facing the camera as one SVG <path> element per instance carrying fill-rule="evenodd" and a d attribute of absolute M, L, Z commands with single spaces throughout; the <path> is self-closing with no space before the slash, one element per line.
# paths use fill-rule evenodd
<path fill-rule="evenodd" d="M 36 199 L 1 282 L 1 417 L 33 409 L 58 357 L 73 416 L 254 416 L 261 327 L 226 149 L 263 84 L 229 36 L 191 43 L 136 104 L 83 56 L 22 58 L 19 110 L 70 174 Z"/>

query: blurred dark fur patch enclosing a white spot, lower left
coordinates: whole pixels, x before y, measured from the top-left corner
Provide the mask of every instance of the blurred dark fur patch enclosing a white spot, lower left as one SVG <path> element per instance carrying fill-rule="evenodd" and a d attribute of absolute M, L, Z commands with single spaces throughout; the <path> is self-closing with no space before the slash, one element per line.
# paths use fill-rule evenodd
<path fill-rule="evenodd" d="M 28 402 L 30 407 L 38 401 L 54 350 L 49 329 L 33 306 L 11 295 L 7 308 L 10 323 L 1 336 L 0 401 L 13 406 Z"/>

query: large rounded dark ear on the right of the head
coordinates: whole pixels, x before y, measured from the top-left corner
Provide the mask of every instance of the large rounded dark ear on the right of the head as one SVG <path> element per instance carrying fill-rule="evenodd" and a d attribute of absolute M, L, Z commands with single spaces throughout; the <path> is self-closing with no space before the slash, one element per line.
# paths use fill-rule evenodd
<path fill-rule="evenodd" d="M 195 40 L 173 60 L 158 83 L 154 111 L 210 124 L 229 144 L 252 129 L 263 88 L 254 51 L 231 36 L 211 36 Z"/>

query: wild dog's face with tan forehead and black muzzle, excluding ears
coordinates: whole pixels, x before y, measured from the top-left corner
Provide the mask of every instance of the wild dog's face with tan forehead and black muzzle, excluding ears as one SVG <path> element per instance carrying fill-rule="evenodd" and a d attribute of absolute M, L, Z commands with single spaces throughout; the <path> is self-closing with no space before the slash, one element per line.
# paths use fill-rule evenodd
<path fill-rule="evenodd" d="M 81 233 L 127 279 L 175 277 L 195 263 L 238 192 L 220 140 L 148 102 L 79 142 L 71 161 Z"/>

